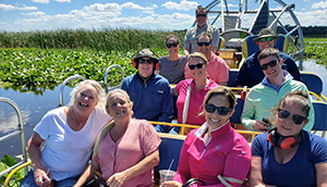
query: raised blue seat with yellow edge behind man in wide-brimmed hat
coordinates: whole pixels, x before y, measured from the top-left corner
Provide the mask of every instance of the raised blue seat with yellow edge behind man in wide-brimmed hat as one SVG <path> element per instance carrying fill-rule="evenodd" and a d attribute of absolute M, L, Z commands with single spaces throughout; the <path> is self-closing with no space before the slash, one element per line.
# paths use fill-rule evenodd
<path fill-rule="evenodd" d="M 253 39 L 255 39 L 257 37 L 258 37 L 257 35 L 247 36 L 243 40 L 242 61 L 239 65 L 239 68 L 242 66 L 243 62 L 245 61 L 245 59 L 249 55 L 259 51 L 259 48 L 256 46 L 256 43 L 253 42 Z M 287 53 L 288 42 L 287 42 L 287 37 L 284 37 L 284 35 L 279 35 L 279 39 L 277 40 L 277 43 L 276 43 L 275 48 L 277 48 L 279 51 L 282 51 L 282 52 Z"/>

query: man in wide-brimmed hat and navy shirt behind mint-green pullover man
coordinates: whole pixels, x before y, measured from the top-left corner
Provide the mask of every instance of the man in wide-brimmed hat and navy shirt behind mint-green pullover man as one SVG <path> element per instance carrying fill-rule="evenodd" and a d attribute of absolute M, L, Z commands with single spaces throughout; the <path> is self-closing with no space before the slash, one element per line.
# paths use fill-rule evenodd
<path fill-rule="evenodd" d="M 237 75 L 234 82 L 235 87 L 253 87 L 264 79 L 265 75 L 257 57 L 264 49 L 274 48 L 278 39 L 279 36 L 275 35 L 275 32 L 271 28 L 263 28 L 259 32 L 258 37 L 253 39 L 253 42 L 258 46 L 259 51 L 245 59 L 239 74 Z M 279 55 L 283 59 L 282 70 L 288 71 L 295 80 L 301 82 L 300 72 L 294 60 L 281 51 L 279 51 Z"/>

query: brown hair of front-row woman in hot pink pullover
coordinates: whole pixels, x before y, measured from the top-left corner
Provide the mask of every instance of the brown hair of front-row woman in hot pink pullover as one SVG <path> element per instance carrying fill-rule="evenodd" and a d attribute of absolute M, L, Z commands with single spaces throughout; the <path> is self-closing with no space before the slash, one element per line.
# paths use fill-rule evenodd
<path fill-rule="evenodd" d="M 207 104 L 208 101 L 214 96 L 225 96 L 229 102 L 229 109 L 231 109 L 231 110 L 233 110 L 234 107 L 237 105 L 237 98 L 235 98 L 234 94 L 228 87 L 225 87 L 225 86 L 218 86 L 218 87 L 210 89 L 206 95 L 203 105 Z M 205 108 L 199 113 L 199 115 L 204 115 L 204 113 L 205 113 Z"/>

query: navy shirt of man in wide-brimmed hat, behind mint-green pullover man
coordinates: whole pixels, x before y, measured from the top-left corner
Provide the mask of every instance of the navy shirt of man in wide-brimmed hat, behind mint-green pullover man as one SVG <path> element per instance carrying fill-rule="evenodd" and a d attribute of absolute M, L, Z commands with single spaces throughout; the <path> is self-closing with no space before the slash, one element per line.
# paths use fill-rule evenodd
<path fill-rule="evenodd" d="M 257 60 L 259 52 L 261 51 L 255 52 L 249 58 L 246 58 L 242 67 L 240 68 L 239 74 L 237 75 L 234 86 L 241 85 L 251 88 L 262 83 L 262 80 L 265 77 L 265 74 Z M 279 55 L 281 59 L 283 59 L 282 68 L 288 71 L 294 77 L 295 80 L 301 82 L 300 72 L 294 60 L 290 55 L 281 51 L 279 51 Z"/>

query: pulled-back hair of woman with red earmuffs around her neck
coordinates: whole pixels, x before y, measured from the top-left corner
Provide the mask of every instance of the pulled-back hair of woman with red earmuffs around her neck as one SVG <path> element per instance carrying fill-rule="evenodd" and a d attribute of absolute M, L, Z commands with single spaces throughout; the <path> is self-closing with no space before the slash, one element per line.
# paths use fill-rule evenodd
<path fill-rule="evenodd" d="M 305 114 L 305 116 L 308 116 L 310 112 L 310 102 L 308 102 L 308 95 L 303 90 L 296 90 L 289 92 L 286 95 L 278 104 L 271 110 L 270 113 L 270 121 L 276 123 L 276 114 L 277 110 L 282 108 L 286 104 L 296 104 L 300 107 L 301 111 Z"/>

